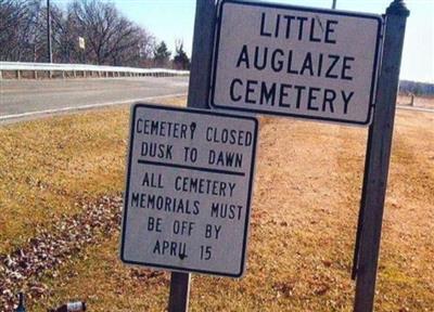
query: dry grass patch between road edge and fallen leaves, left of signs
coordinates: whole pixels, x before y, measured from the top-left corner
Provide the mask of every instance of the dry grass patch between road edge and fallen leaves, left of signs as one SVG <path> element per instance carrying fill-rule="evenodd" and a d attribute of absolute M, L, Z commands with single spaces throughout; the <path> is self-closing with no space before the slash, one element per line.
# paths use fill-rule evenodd
<path fill-rule="evenodd" d="M 125 107 L 0 127 L 0 253 L 33 237 L 36 226 L 53 226 L 53 217 L 79 212 L 76 203 L 120 192 Z"/>

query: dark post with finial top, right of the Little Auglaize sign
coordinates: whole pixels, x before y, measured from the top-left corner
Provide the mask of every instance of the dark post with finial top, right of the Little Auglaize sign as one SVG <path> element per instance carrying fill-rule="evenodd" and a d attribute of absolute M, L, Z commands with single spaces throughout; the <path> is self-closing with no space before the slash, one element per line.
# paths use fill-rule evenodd
<path fill-rule="evenodd" d="M 373 122 L 369 129 L 367 161 L 359 221 L 360 244 L 356 248 L 355 312 L 373 310 L 384 200 L 394 129 L 399 69 L 406 21 L 403 0 L 395 0 L 385 15 L 383 56 Z M 358 250 L 357 250 L 358 249 Z"/>

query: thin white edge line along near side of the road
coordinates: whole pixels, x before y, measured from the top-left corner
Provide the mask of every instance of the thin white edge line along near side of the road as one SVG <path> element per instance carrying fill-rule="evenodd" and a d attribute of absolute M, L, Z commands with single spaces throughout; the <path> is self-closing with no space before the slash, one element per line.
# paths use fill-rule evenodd
<path fill-rule="evenodd" d="M 16 119 L 16 118 L 23 118 L 23 117 L 29 117 L 29 116 L 55 114 L 55 113 L 63 113 L 63 112 L 71 112 L 71 110 L 89 109 L 89 108 L 95 108 L 95 107 L 102 107 L 102 106 L 122 105 L 122 104 L 129 104 L 129 103 L 133 103 L 133 102 L 152 101 L 152 100 L 184 96 L 184 95 L 187 95 L 187 93 L 175 93 L 175 94 L 167 94 L 167 95 L 148 96 L 148 98 L 141 98 L 141 99 L 129 99 L 129 100 L 123 100 L 123 101 L 117 101 L 117 102 L 105 102 L 105 103 L 88 104 L 88 105 L 80 105 L 80 106 L 68 106 L 68 107 L 62 107 L 62 108 L 27 112 L 27 113 L 22 113 L 22 114 L 12 114 L 12 115 L 0 116 L 0 120 Z"/>

